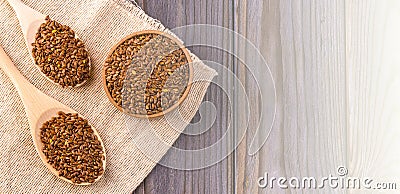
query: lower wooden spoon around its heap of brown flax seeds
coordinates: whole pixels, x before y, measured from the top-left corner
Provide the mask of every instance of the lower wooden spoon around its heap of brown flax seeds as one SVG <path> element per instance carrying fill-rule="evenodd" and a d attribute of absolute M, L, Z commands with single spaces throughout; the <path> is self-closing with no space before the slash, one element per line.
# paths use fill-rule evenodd
<path fill-rule="evenodd" d="M 91 183 L 76 184 L 64 177 L 59 176 L 58 171 L 56 171 L 56 169 L 54 169 L 50 164 L 47 163 L 46 156 L 43 154 L 43 151 L 42 151 L 43 145 L 40 140 L 40 128 L 41 128 L 42 124 L 44 122 L 50 120 L 52 117 L 57 116 L 58 111 L 63 111 L 65 113 L 77 113 L 77 112 L 72 110 L 71 108 L 61 104 L 57 100 L 47 96 L 46 94 L 42 93 L 37 88 L 35 88 L 35 86 L 33 86 L 31 83 L 29 83 L 24 78 L 24 76 L 21 75 L 21 73 L 18 71 L 18 69 L 14 66 L 13 62 L 7 56 L 7 54 L 4 52 L 2 47 L 0 47 L 0 68 L 11 79 L 11 81 L 14 83 L 19 95 L 21 96 L 21 100 L 24 104 L 25 111 L 28 116 L 29 127 L 31 130 L 33 144 L 35 145 L 36 151 L 39 154 L 40 158 L 42 159 L 43 163 L 46 165 L 46 167 L 54 175 L 56 175 L 60 179 L 67 181 L 71 184 L 75 184 L 75 185 L 91 184 Z M 82 115 L 79 115 L 79 116 L 84 118 Z M 90 123 L 89 123 L 89 125 L 92 126 L 94 134 L 98 137 L 98 140 L 100 141 L 100 143 L 102 145 L 104 156 L 106 156 L 103 141 L 101 140 L 99 134 L 97 133 L 97 130 Z M 106 170 L 106 157 L 103 161 L 103 168 L 105 171 Z M 99 180 L 101 178 L 101 176 L 99 176 L 95 181 Z"/>

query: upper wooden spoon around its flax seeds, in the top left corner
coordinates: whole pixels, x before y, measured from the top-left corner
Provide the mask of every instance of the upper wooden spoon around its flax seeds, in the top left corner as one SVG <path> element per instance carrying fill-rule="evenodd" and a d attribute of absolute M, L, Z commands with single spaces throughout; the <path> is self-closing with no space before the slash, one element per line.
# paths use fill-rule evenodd
<path fill-rule="evenodd" d="M 24 34 L 25 42 L 28 47 L 29 54 L 31 55 L 31 58 L 33 61 L 35 59 L 33 58 L 32 54 L 32 43 L 35 42 L 35 37 L 36 33 L 38 32 L 40 25 L 43 23 L 46 23 L 46 15 L 43 15 L 42 13 L 28 7 L 27 5 L 23 4 L 20 0 L 8 0 L 8 3 L 10 3 L 11 7 L 14 9 L 15 13 L 17 14 L 17 18 L 19 20 L 19 24 L 22 29 L 22 33 Z M 79 38 L 78 35 L 75 33 L 75 38 Z M 88 57 L 89 61 L 89 72 L 90 72 L 90 57 Z M 35 65 L 38 69 L 39 67 Z M 48 78 L 40 69 L 39 72 L 46 77 L 50 82 L 60 85 L 50 78 Z M 86 83 L 87 80 L 84 80 L 82 83 L 77 84 L 74 87 L 79 87 L 82 86 L 83 84 Z M 71 86 L 69 86 L 71 87 Z"/>

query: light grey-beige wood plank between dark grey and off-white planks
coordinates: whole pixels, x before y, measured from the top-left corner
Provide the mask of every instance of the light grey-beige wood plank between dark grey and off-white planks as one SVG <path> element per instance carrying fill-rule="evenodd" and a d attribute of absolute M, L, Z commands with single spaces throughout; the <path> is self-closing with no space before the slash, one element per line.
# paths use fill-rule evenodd
<path fill-rule="evenodd" d="M 282 54 L 280 39 L 280 1 L 235 1 L 234 30 L 245 36 L 265 57 L 274 77 L 277 94 L 277 113 L 273 129 L 263 148 L 255 155 L 249 155 L 250 143 L 255 135 L 253 128 L 257 121 L 252 119 L 249 123 L 249 130 L 236 150 L 235 166 L 235 188 L 237 193 L 265 193 L 266 190 L 260 189 L 257 179 L 269 172 L 274 176 L 285 176 L 284 172 L 284 139 L 281 130 L 283 120 L 281 115 L 284 105 L 282 97 Z M 246 52 L 245 48 L 238 48 L 237 52 Z M 245 64 L 235 61 L 236 75 L 246 86 L 246 93 L 252 104 L 259 104 L 261 97 L 256 91 L 254 80 L 251 73 L 246 69 Z M 257 70 L 256 72 L 257 73 Z M 258 80 L 260 81 L 260 80 Z M 238 100 L 240 101 L 240 100 Z M 258 106 L 259 107 L 259 106 Z M 261 109 L 254 106 L 250 112 L 251 118 L 257 118 Z M 246 115 L 238 113 L 237 120 L 245 119 Z M 261 130 L 268 130 L 269 123 L 261 123 Z M 267 193 L 285 193 L 282 189 L 270 189 Z"/>

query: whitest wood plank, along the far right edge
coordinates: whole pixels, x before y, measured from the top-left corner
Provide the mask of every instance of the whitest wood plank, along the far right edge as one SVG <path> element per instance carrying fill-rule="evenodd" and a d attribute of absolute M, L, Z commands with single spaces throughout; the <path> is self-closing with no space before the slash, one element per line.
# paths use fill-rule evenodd
<path fill-rule="evenodd" d="M 397 182 L 397 188 L 400 187 L 399 21 L 399 1 L 346 2 L 350 175 Z"/>

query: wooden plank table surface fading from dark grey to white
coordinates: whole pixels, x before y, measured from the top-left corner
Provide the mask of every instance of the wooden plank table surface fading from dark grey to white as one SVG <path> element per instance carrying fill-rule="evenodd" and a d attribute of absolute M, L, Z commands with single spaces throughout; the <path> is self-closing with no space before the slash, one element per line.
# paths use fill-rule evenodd
<path fill-rule="evenodd" d="M 277 112 L 271 135 L 257 154 L 248 154 L 255 133 L 249 130 L 238 148 L 221 162 L 188 171 L 157 165 L 134 193 L 303 193 L 299 189 L 262 189 L 257 179 L 265 172 L 286 177 L 327 176 L 341 165 L 352 176 L 386 177 L 400 184 L 400 169 L 396 168 L 400 151 L 395 149 L 400 145 L 396 128 L 399 119 L 394 119 L 400 116 L 400 82 L 396 76 L 400 73 L 399 1 L 137 3 L 168 28 L 213 24 L 252 41 L 271 68 Z M 223 64 L 234 72 L 246 86 L 251 102 L 260 103 L 253 90 L 255 80 L 233 56 L 212 48 L 190 49 L 199 58 Z M 174 147 L 207 147 L 226 132 L 229 119 L 240 122 L 237 113 L 229 118 L 228 99 L 211 85 L 204 100 L 216 107 L 215 123 L 201 135 L 182 135 Z M 260 112 L 253 109 L 252 115 Z M 194 121 L 199 119 L 197 115 Z M 167 153 L 163 160 L 199 162 L 179 160 L 173 153 Z M 318 192 L 352 191 L 324 188 Z"/>

